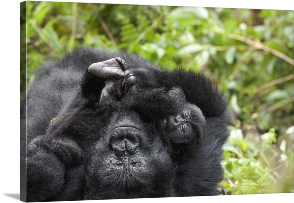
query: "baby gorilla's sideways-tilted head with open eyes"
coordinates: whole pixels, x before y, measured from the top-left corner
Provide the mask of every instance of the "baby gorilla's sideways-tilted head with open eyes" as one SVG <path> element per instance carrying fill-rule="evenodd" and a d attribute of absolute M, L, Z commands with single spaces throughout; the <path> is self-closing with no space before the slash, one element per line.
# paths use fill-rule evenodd
<path fill-rule="evenodd" d="M 173 95 L 177 93 L 179 97 L 183 94 L 180 89 L 170 91 Z M 200 108 L 183 100 L 178 106 L 181 109 L 175 114 L 157 122 L 158 129 L 167 134 L 173 154 L 177 158 L 192 155 L 197 151 L 206 134 L 206 120 Z"/>

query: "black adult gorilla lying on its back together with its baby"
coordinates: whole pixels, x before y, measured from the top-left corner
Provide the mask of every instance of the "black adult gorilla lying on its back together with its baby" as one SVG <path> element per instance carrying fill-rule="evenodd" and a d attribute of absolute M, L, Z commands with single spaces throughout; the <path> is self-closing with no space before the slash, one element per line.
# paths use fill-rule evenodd
<path fill-rule="evenodd" d="M 90 66 L 96 62 L 98 69 Z M 45 65 L 36 78 L 21 103 L 23 200 L 215 193 L 229 117 L 223 96 L 201 74 L 82 49 Z M 188 139 L 181 133 L 191 122 Z"/>

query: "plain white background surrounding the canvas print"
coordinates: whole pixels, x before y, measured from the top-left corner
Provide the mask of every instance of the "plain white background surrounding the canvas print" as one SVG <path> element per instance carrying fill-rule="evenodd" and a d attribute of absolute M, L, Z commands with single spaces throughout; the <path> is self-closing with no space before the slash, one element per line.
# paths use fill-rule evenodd
<path fill-rule="evenodd" d="M 62 0 L 59 0 L 62 1 Z M 70 0 L 68 0 L 69 2 Z M 203 6 L 225 8 L 281 9 L 293 10 L 293 1 L 245 0 L 204 0 L 204 1 L 163 1 L 163 0 L 79 0 L 75 2 L 149 4 L 172 6 Z M 0 202 L 19 202 L 19 3 L 16 0 L 1 1 L 1 96 L 0 96 Z M 72 2 L 72 1 L 71 1 Z M 291 3 L 290 3 L 291 2 Z M 3 62 L 4 61 L 4 62 Z M 156 198 L 131 200 L 100 200 L 99 202 L 292 202 L 293 193 L 262 195 L 231 195 L 214 197 Z M 84 201 L 73 201 L 84 202 Z M 96 200 L 89 202 L 98 202 Z M 84 202 L 85 203 L 85 202 Z"/>

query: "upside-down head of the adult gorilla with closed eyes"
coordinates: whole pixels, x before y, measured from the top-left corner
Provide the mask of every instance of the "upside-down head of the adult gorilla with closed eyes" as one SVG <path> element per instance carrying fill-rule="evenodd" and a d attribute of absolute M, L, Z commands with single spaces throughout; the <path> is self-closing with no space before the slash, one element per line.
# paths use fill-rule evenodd
<path fill-rule="evenodd" d="M 86 157 L 85 199 L 171 197 L 169 143 L 134 112 L 114 112 Z"/>

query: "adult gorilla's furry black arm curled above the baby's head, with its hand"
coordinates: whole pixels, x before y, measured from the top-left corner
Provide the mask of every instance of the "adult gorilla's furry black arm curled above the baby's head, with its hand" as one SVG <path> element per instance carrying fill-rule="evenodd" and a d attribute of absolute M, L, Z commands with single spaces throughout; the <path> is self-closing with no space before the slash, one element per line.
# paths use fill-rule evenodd
<path fill-rule="evenodd" d="M 139 68 L 130 70 L 123 87 L 127 93 L 135 86 L 137 89 L 181 87 L 188 102 L 197 105 L 205 117 L 218 116 L 225 113 L 227 105 L 218 88 L 202 73 L 184 71 Z"/>

